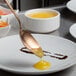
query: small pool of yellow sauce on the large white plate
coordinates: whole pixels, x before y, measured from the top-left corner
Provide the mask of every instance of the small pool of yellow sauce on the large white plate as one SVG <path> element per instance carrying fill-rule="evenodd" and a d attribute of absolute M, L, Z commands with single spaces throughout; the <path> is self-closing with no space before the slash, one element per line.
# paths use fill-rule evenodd
<path fill-rule="evenodd" d="M 51 63 L 41 59 L 39 62 L 35 63 L 33 67 L 38 70 L 47 70 L 51 67 Z"/>

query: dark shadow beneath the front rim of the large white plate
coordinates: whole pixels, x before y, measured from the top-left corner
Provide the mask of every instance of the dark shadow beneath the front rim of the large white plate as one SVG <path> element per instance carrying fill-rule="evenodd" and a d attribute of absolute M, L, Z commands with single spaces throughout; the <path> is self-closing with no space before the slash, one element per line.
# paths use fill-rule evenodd
<path fill-rule="evenodd" d="M 67 75 L 73 69 L 74 69 L 74 66 L 72 66 L 72 67 L 70 67 L 68 69 L 65 69 L 63 71 L 59 71 L 59 72 L 53 73 L 53 74 L 49 73 L 49 74 L 45 74 L 45 75 L 27 75 L 27 76 L 65 76 L 65 73 Z M 6 75 L 8 75 L 8 76 L 25 76 L 26 74 L 16 74 L 16 73 L 0 70 L 0 75 L 2 75 L 2 76 L 6 76 Z"/>

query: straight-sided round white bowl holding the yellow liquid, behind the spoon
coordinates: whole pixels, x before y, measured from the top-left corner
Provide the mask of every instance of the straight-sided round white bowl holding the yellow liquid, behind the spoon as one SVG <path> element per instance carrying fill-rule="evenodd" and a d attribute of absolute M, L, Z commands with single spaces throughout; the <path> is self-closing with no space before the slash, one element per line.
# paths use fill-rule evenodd
<path fill-rule="evenodd" d="M 57 13 L 54 17 L 49 18 L 31 18 L 28 14 L 40 11 L 50 11 Z M 48 33 L 57 30 L 60 27 L 60 13 L 53 9 L 32 9 L 25 12 L 25 28 L 32 32 Z"/>

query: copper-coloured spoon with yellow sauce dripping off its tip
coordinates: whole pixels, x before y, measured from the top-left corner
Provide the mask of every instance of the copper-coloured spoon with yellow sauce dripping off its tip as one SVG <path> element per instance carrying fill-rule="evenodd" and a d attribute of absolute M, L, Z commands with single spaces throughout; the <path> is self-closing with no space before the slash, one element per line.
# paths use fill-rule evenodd
<path fill-rule="evenodd" d="M 36 56 L 42 58 L 44 56 L 44 53 L 42 51 L 41 46 L 38 44 L 38 42 L 35 40 L 35 38 L 31 35 L 31 33 L 28 30 L 22 29 L 22 24 L 18 15 L 14 12 L 14 9 L 10 5 L 9 1 L 8 0 L 4 0 L 4 1 L 12 11 L 14 16 L 16 17 L 17 21 L 19 22 L 19 35 L 23 45 L 27 47 L 27 49 L 32 51 Z"/>

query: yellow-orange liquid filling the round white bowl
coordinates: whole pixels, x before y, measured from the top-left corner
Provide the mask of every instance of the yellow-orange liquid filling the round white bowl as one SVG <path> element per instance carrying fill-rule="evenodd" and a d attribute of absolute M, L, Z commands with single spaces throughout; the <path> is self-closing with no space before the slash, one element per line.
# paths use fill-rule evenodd
<path fill-rule="evenodd" d="M 51 18 L 57 16 L 56 12 L 44 11 L 44 12 L 35 12 L 28 14 L 31 18 Z"/>

